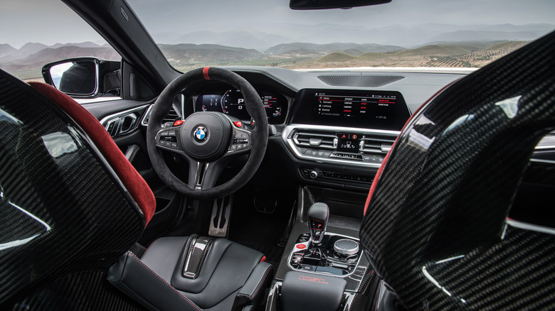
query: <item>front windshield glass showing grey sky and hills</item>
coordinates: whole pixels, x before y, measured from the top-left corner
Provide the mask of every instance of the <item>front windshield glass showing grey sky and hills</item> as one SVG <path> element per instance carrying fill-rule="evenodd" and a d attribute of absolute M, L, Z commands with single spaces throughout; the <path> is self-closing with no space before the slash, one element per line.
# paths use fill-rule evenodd
<path fill-rule="evenodd" d="M 555 1 L 393 0 L 294 11 L 287 0 L 129 0 L 177 70 L 262 65 L 482 67 L 552 31 Z"/>

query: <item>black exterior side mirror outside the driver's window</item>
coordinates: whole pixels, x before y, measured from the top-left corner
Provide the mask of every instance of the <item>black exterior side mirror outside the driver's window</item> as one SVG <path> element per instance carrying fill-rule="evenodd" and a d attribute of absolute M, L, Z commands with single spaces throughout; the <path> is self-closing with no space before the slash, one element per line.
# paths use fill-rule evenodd
<path fill-rule="evenodd" d="M 70 58 L 44 65 L 44 81 L 71 97 L 120 96 L 120 62 Z"/>

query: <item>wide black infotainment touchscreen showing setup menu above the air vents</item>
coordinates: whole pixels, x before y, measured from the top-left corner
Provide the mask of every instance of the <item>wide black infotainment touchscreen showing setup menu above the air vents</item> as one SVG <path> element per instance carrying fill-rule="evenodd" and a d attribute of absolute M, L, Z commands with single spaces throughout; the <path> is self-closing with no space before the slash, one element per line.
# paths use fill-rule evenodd
<path fill-rule="evenodd" d="M 410 116 L 399 92 L 302 89 L 292 123 L 400 131 Z"/>

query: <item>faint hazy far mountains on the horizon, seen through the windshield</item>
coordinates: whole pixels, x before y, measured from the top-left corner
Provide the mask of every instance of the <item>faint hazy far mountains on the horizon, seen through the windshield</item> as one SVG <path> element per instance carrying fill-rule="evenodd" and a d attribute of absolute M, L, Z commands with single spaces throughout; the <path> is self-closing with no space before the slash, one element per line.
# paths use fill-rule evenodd
<path fill-rule="evenodd" d="M 253 28 L 236 26 L 226 31 L 194 31 L 191 33 L 152 33 L 158 43 L 207 43 L 238 48 L 253 48 L 264 52 L 282 43 L 328 44 L 332 42 L 375 43 L 403 48 L 426 45 L 436 41 L 468 40 L 534 40 L 553 31 L 555 25 L 532 23 L 527 25 L 450 25 L 428 23 L 416 26 L 385 26 L 365 28 L 337 23 L 304 25 L 298 23 L 265 23 Z"/>

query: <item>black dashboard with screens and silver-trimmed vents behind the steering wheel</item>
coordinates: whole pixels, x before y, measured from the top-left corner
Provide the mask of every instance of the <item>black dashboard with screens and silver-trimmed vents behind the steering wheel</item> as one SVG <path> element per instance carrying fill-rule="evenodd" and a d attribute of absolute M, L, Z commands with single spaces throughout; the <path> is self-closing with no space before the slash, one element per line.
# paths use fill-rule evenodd
<path fill-rule="evenodd" d="M 260 95 L 268 122 L 275 128 L 268 147 L 280 168 L 303 185 L 354 190 L 370 187 L 413 111 L 445 85 L 472 72 L 226 69 L 248 80 Z M 183 95 L 174 101 L 176 111 L 169 124 L 200 111 L 250 121 L 243 95 L 229 84 L 203 81 L 184 89 Z M 143 125 L 146 120 L 147 116 Z M 548 137 L 551 142 L 553 137 Z M 418 139 L 426 143 L 425 137 Z M 555 148 L 555 143 L 544 139 L 536 150 L 549 148 Z"/>

